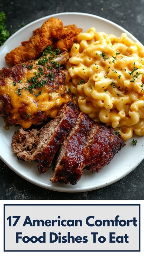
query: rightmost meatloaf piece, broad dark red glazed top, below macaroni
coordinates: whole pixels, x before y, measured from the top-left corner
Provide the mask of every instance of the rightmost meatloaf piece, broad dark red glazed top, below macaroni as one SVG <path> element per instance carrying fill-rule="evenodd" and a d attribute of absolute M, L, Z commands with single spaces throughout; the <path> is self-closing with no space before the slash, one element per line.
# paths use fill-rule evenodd
<path fill-rule="evenodd" d="M 123 146 L 122 137 L 114 129 L 103 124 L 93 123 L 86 140 L 87 153 L 83 168 L 99 172 L 101 168 L 109 164 Z"/>

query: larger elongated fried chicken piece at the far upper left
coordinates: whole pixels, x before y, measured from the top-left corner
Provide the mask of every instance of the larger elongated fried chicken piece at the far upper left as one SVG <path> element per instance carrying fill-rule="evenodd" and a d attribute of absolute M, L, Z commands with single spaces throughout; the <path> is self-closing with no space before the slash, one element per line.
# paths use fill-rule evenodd
<path fill-rule="evenodd" d="M 60 39 L 63 36 L 63 22 L 60 19 L 50 18 L 43 25 L 33 31 L 34 35 L 29 41 L 7 53 L 5 61 L 10 65 L 19 64 L 28 60 L 36 60 L 41 56 L 43 50 L 52 45 L 53 38 Z"/>

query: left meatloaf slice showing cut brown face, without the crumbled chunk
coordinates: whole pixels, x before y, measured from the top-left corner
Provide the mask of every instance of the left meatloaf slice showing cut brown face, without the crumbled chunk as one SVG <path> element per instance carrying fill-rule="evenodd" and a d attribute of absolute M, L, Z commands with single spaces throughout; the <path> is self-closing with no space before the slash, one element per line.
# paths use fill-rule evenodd
<path fill-rule="evenodd" d="M 39 143 L 31 156 L 31 160 L 38 162 L 39 173 L 46 172 L 50 167 L 57 149 L 73 128 L 78 113 L 77 105 L 68 102 L 55 119 L 41 128 Z"/>

